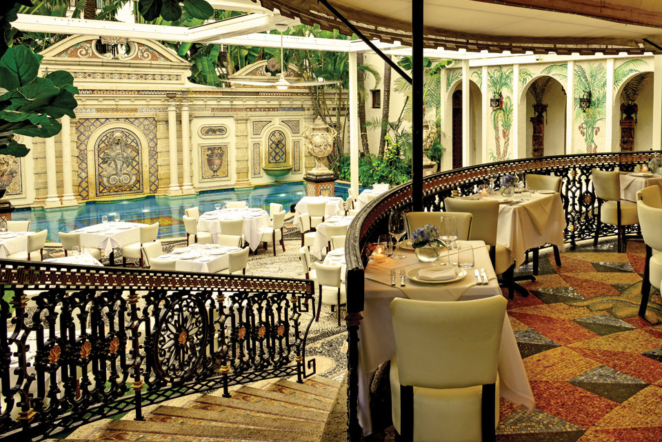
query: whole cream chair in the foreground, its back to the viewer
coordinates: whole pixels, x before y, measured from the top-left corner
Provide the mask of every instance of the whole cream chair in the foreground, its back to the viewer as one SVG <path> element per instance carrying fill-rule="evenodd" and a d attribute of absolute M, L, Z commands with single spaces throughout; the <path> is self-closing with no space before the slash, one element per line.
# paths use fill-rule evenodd
<path fill-rule="evenodd" d="M 506 305 L 500 296 L 391 301 L 392 418 L 403 441 L 496 439 L 497 364 Z"/>

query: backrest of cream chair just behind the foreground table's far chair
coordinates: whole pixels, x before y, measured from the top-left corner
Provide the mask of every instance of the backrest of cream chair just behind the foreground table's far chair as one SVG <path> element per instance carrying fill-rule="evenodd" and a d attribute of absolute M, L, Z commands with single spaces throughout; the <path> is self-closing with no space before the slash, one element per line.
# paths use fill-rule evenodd
<path fill-rule="evenodd" d="M 467 212 L 473 215 L 469 239 L 484 241 L 487 245 L 496 245 L 499 201 L 496 201 L 496 199 L 493 201 L 472 201 L 470 199 L 446 198 L 443 200 L 443 205 L 449 212 Z"/>

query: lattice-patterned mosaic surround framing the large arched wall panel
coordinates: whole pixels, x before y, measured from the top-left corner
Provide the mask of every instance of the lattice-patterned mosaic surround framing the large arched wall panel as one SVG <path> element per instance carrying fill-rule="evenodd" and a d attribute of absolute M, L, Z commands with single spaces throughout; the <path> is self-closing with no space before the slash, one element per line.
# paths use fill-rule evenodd
<path fill-rule="evenodd" d="M 90 177 L 88 170 L 88 142 L 92 134 L 101 126 L 109 123 L 127 123 L 134 125 L 139 132 L 142 132 L 147 139 L 148 158 L 149 158 L 149 174 L 150 174 L 150 188 L 149 193 L 156 193 L 159 188 L 159 179 L 157 177 L 158 167 L 157 161 L 159 155 L 157 154 L 157 121 L 154 118 L 90 118 L 79 119 L 76 124 L 76 141 L 77 141 L 77 165 L 78 165 L 78 194 L 81 199 L 90 199 Z M 92 171 L 92 178 L 97 177 L 99 174 L 95 170 Z M 96 184 L 94 184 L 96 187 Z"/>

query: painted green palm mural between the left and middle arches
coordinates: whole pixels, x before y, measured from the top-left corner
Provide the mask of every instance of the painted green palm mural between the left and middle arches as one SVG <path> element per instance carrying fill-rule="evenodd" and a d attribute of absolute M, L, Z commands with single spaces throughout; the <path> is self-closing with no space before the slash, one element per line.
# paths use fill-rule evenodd
<path fill-rule="evenodd" d="M 488 91 L 492 97 L 503 96 L 503 90 L 512 92 L 512 69 L 503 70 L 501 66 L 488 70 Z M 494 150 L 490 150 L 492 161 L 508 159 L 510 144 L 510 128 L 512 126 L 512 99 L 503 98 L 501 108 L 492 109 L 490 114 L 492 128 L 494 129 Z M 503 150 L 501 150 L 501 137 L 503 137 Z"/>

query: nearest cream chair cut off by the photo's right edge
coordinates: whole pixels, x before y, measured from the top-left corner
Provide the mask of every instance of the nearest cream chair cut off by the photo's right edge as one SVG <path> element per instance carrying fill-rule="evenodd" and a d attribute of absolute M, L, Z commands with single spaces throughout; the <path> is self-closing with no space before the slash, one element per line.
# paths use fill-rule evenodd
<path fill-rule="evenodd" d="M 641 192 L 641 190 L 639 190 Z M 639 198 L 637 192 L 637 198 Z M 655 208 L 643 200 L 636 201 L 636 210 L 639 212 L 639 226 L 641 236 L 646 245 L 646 261 L 643 269 L 643 281 L 641 281 L 641 304 L 639 305 L 639 316 L 645 317 L 648 298 L 650 297 L 650 286 L 659 289 L 662 285 L 662 208 Z"/>

